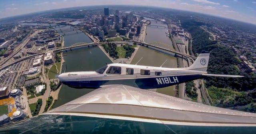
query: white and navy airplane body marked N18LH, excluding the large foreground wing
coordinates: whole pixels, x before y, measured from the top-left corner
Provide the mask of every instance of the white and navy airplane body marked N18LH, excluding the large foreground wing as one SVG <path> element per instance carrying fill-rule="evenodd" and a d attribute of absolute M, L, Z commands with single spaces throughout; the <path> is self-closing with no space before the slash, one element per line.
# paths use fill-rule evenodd
<path fill-rule="evenodd" d="M 162 68 L 132 64 L 108 64 L 96 71 L 65 72 L 56 76 L 73 88 L 100 88 L 102 85 L 124 84 L 141 89 L 164 88 L 204 78 L 205 76 L 239 78 L 237 75 L 208 74 L 210 53 L 202 51 L 186 68 Z M 132 84 L 132 85 L 131 85 Z"/>

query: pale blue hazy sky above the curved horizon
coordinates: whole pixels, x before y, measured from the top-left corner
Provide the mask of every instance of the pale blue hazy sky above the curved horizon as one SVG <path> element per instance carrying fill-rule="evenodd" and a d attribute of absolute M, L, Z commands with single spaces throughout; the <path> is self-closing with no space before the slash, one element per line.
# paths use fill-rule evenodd
<path fill-rule="evenodd" d="M 256 0 L 1 0 L 0 18 L 44 10 L 93 5 L 158 6 L 256 24 Z"/>

